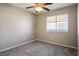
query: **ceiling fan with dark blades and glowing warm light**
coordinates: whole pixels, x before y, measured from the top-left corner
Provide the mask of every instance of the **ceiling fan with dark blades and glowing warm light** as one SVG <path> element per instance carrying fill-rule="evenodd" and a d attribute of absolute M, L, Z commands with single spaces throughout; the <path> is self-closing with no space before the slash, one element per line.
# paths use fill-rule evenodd
<path fill-rule="evenodd" d="M 42 12 L 43 10 L 50 11 L 46 6 L 53 3 L 34 3 L 34 6 L 26 7 L 25 9 L 35 8 L 36 13 Z"/>

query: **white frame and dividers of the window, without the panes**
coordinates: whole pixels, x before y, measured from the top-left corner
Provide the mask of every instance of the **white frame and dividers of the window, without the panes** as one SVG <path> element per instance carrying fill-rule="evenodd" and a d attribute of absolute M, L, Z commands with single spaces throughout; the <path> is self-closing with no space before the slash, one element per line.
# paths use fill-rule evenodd
<path fill-rule="evenodd" d="M 66 20 L 58 21 L 57 17 L 58 17 L 58 16 L 62 16 L 62 15 L 63 15 L 63 16 L 64 16 L 64 15 L 67 15 L 67 17 L 65 18 Z M 47 32 L 68 32 L 68 20 L 69 20 L 69 19 L 68 19 L 68 14 L 62 14 L 62 15 L 55 15 L 55 17 L 56 17 L 55 22 L 47 22 L 47 21 L 48 21 L 48 19 L 47 19 L 48 17 L 46 18 L 46 30 L 47 30 Z M 53 16 L 49 16 L 49 17 L 53 17 Z M 61 18 L 61 19 L 62 19 L 62 18 Z M 67 22 L 67 29 L 66 29 L 66 31 L 63 30 L 63 29 L 62 29 L 61 31 L 58 30 L 57 24 L 58 24 L 59 22 Z M 55 29 L 55 30 L 54 30 L 54 29 L 48 29 L 48 27 L 47 27 L 47 26 L 48 26 L 48 23 L 56 23 L 56 25 L 55 25 L 55 26 L 56 26 L 56 27 L 55 27 L 56 29 Z"/>

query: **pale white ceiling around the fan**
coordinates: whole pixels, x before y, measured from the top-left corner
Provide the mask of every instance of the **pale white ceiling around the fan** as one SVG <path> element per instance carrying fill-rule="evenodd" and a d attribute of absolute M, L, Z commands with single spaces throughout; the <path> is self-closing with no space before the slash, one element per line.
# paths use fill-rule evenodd
<path fill-rule="evenodd" d="M 29 7 L 29 6 L 33 6 L 34 3 L 11 3 L 11 5 L 19 7 L 23 10 L 32 12 L 32 13 L 36 13 L 34 8 L 30 8 L 30 9 L 25 9 L 25 7 Z M 59 8 L 63 8 L 63 7 L 68 7 L 74 5 L 74 3 L 53 3 L 51 5 L 46 6 L 47 8 L 49 8 L 50 10 L 54 10 L 54 9 L 59 9 Z M 47 11 L 43 11 L 42 13 L 47 12 Z"/>

